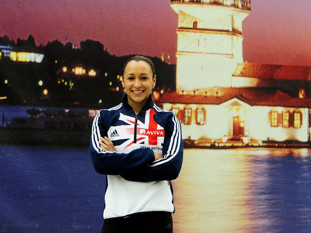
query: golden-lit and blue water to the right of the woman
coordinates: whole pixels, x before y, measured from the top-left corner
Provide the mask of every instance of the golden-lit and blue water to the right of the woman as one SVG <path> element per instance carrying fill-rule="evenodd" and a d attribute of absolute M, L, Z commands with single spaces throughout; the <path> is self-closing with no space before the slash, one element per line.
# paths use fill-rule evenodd
<path fill-rule="evenodd" d="M 186 149 L 174 232 L 310 232 L 310 149 Z"/>

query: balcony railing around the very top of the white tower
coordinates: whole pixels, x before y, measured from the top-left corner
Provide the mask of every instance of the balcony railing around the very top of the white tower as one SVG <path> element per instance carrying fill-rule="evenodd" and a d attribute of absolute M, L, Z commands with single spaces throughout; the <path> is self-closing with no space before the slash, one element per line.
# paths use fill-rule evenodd
<path fill-rule="evenodd" d="M 217 4 L 229 7 L 235 7 L 243 10 L 251 10 L 251 0 L 171 0 L 171 2 L 195 2 L 202 4 Z"/>

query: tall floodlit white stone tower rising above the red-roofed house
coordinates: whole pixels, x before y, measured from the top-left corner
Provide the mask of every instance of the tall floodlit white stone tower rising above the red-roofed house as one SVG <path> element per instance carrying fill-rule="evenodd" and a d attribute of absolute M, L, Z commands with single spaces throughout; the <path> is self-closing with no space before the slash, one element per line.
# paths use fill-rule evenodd
<path fill-rule="evenodd" d="M 176 90 L 230 87 L 243 62 L 242 22 L 250 0 L 171 0 L 178 14 Z"/>

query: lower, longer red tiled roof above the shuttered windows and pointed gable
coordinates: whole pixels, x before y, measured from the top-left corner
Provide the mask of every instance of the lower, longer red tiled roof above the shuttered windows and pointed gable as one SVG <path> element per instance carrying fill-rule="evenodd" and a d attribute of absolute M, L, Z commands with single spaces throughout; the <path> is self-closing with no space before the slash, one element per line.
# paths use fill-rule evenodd
<path fill-rule="evenodd" d="M 221 104 L 232 98 L 252 106 L 283 106 L 311 108 L 311 98 L 292 98 L 289 95 L 271 88 L 219 88 L 206 89 L 196 95 L 166 92 L 158 103 L 183 104 Z"/>

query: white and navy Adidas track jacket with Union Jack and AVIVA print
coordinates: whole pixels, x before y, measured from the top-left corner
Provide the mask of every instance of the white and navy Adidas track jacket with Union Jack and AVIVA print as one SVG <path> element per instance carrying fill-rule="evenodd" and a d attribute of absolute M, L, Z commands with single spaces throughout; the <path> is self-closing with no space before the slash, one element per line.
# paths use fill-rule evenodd
<path fill-rule="evenodd" d="M 107 136 L 116 152 L 100 148 Z M 104 219 L 149 211 L 174 212 L 170 180 L 178 177 L 183 161 L 181 125 L 173 112 L 157 107 L 149 96 L 139 113 L 125 94 L 116 107 L 94 118 L 91 159 L 95 171 L 106 175 Z M 164 158 L 155 161 L 155 153 Z"/>

